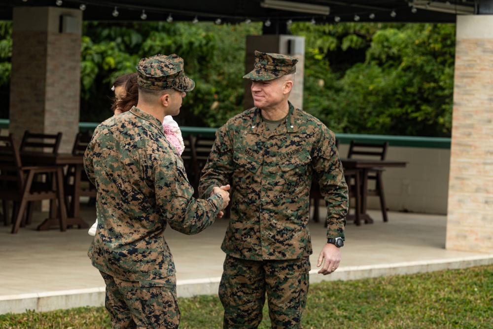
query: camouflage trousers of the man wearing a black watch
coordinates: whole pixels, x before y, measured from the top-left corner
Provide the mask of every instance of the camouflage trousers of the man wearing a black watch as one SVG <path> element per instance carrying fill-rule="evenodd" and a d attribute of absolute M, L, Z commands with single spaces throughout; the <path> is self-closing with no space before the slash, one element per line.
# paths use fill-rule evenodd
<path fill-rule="evenodd" d="M 257 328 L 267 294 L 272 328 L 301 328 L 310 259 L 254 261 L 226 256 L 219 284 L 223 328 Z"/>

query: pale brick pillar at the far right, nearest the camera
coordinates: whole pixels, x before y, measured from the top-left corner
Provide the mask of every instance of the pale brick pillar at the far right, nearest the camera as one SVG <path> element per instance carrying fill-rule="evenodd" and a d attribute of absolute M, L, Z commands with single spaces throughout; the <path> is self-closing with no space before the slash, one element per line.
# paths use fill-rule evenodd
<path fill-rule="evenodd" d="M 493 253 L 493 16 L 457 16 L 446 248 Z"/>

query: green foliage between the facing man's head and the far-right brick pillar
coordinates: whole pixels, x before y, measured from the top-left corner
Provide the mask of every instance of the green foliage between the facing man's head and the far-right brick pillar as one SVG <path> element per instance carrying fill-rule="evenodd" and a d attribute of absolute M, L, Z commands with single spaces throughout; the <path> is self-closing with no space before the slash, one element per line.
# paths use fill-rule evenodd
<path fill-rule="evenodd" d="M 307 35 L 304 108 L 335 132 L 450 136 L 454 25 L 293 24 L 293 33 Z"/>

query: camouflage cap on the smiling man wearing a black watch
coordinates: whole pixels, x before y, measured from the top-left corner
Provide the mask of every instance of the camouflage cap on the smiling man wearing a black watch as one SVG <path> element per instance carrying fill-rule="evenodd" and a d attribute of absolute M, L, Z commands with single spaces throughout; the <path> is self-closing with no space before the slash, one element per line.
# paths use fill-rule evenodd
<path fill-rule="evenodd" d="M 298 63 L 298 60 L 291 56 L 255 51 L 253 71 L 246 74 L 244 78 L 253 81 L 277 79 L 282 75 L 295 73 L 296 63 Z"/>

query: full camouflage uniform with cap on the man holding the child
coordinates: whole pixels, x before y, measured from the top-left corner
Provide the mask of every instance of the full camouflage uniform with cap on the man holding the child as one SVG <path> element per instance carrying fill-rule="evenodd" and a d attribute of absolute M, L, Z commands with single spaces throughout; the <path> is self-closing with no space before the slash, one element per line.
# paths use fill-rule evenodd
<path fill-rule="evenodd" d="M 193 88 L 176 55 L 142 59 L 137 68 L 141 86 Z M 113 328 L 177 328 L 176 270 L 163 232 L 169 224 L 199 233 L 216 218 L 222 197 L 192 197 L 161 122 L 136 107 L 96 128 L 84 167 L 98 191 L 99 224 L 88 255 L 105 279 Z"/>

